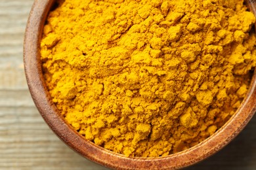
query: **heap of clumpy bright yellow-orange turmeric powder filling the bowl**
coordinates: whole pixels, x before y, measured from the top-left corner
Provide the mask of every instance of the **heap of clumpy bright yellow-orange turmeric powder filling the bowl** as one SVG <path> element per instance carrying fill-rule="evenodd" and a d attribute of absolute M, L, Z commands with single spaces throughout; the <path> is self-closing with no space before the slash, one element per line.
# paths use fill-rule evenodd
<path fill-rule="evenodd" d="M 167 156 L 236 112 L 255 67 L 242 0 L 58 0 L 41 40 L 45 82 L 85 139 Z"/>

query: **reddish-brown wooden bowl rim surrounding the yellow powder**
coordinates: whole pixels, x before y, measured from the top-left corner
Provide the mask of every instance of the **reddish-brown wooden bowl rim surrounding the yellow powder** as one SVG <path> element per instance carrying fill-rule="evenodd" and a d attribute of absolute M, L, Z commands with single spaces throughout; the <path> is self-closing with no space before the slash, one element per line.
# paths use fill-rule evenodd
<path fill-rule="evenodd" d="M 256 73 L 253 75 L 249 92 L 236 114 L 217 133 L 188 150 L 160 158 L 127 158 L 87 141 L 66 124 L 51 101 L 43 78 L 40 41 L 45 19 L 53 3 L 54 0 L 36 0 L 30 12 L 24 40 L 26 78 L 33 101 L 45 122 L 64 143 L 85 158 L 115 169 L 179 169 L 202 161 L 221 150 L 252 118 L 256 109 Z"/>

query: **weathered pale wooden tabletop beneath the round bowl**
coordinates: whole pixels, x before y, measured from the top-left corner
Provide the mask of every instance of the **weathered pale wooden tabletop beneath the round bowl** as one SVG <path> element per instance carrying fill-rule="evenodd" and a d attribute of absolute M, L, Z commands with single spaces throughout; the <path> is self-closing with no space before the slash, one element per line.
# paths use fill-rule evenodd
<path fill-rule="evenodd" d="M 22 59 L 32 3 L 0 1 L 0 169 L 106 169 L 62 143 L 33 104 Z M 256 169 L 255 129 L 256 117 L 221 152 L 188 169 Z"/>

